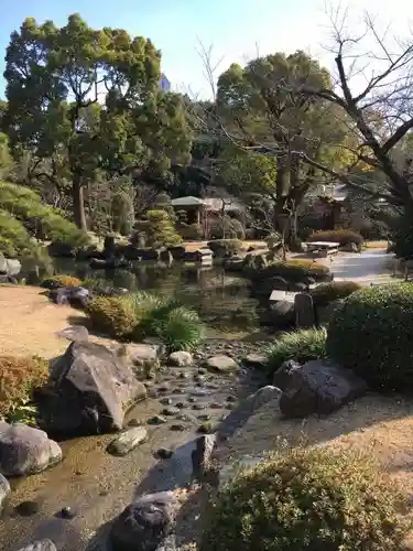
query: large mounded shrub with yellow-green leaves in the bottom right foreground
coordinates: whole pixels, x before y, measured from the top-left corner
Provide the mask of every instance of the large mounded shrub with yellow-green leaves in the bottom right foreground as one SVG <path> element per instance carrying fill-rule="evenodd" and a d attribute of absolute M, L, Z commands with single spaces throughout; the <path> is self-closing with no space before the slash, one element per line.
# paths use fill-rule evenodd
<path fill-rule="evenodd" d="M 241 471 L 211 506 L 199 551 L 399 551 L 407 500 L 367 456 L 295 449 Z"/>

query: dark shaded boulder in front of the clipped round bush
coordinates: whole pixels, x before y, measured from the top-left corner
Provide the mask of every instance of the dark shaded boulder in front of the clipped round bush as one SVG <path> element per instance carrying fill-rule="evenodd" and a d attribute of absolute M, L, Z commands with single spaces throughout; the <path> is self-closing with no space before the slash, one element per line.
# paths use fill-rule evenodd
<path fill-rule="evenodd" d="M 283 387 L 280 411 L 286 418 L 328 414 L 362 396 L 366 382 L 351 370 L 327 361 L 312 360 L 303 366 L 290 364 L 275 383 Z"/>

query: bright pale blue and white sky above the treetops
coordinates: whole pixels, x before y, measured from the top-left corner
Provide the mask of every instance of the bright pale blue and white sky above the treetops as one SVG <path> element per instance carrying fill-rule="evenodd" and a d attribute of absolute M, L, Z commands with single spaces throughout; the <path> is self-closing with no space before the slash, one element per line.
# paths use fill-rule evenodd
<path fill-rule="evenodd" d="M 377 9 L 376 0 L 348 1 L 355 1 L 358 10 Z M 257 52 L 303 48 L 323 56 L 323 0 L 11 0 L 0 18 L 0 50 L 4 52 L 10 33 L 28 17 L 63 25 L 67 15 L 78 12 L 90 26 L 121 28 L 150 37 L 162 51 L 162 68 L 174 87 L 182 91 L 191 86 L 193 93 L 206 94 L 197 39 L 214 44 L 216 58 L 224 56 L 220 71 L 257 56 Z M 383 10 L 405 17 L 401 8 L 410 2 L 393 0 L 389 6 Z M 4 95 L 3 69 L 0 54 L 0 97 Z"/>

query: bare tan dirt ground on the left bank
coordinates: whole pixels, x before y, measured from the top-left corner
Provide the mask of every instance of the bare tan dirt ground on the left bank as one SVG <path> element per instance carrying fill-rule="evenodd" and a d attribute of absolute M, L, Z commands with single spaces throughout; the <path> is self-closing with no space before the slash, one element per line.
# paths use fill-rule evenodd
<path fill-rule="evenodd" d="M 56 357 L 68 345 L 56 333 L 81 318 L 80 311 L 50 303 L 43 289 L 0 285 L 0 354 Z"/>

